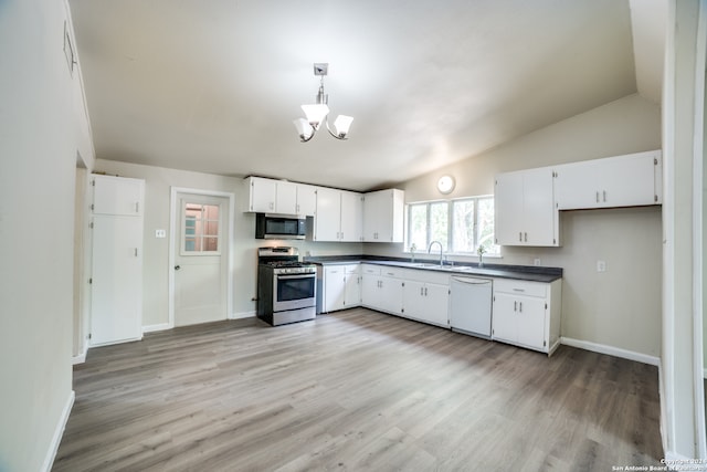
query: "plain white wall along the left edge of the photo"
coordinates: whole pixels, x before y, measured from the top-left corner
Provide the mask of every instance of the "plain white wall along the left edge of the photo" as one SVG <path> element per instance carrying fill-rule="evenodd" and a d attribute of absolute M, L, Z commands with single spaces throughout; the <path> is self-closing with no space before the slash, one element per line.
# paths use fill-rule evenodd
<path fill-rule="evenodd" d="M 93 157 L 66 19 L 62 1 L 0 2 L 2 471 L 51 466 L 73 401 L 74 180 L 78 149 Z"/>

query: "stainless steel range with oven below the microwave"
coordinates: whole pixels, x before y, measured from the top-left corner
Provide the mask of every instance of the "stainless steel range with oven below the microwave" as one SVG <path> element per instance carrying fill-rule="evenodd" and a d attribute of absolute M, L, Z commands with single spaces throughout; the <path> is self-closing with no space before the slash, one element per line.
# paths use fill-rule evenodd
<path fill-rule="evenodd" d="M 257 317 L 273 326 L 317 316 L 317 269 L 297 248 L 257 250 Z"/>

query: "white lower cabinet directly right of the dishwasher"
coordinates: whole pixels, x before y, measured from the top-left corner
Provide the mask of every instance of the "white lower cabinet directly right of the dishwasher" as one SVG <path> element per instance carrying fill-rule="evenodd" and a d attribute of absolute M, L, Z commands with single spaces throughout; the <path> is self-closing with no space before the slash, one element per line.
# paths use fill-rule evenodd
<path fill-rule="evenodd" d="M 561 291 L 561 280 L 495 280 L 492 339 L 551 354 L 560 342 Z"/>

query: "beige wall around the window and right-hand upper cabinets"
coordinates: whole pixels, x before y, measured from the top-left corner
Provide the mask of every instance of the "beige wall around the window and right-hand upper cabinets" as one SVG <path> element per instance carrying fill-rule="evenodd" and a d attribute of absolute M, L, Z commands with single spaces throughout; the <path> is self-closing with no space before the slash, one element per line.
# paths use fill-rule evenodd
<path fill-rule="evenodd" d="M 440 199 L 436 179 L 457 181 L 450 196 L 487 195 L 502 171 L 661 148 L 661 111 L 631 95 L 410 180 L 405 200 Z M 561 248 L 511 248 L 487 263 L 564 269 L 562 336 L 626 349 L 655 361 L 661 354 L 661 208 L 562 212 Z M 372 254 L 402 254 L 402 244 L 366 244 Z M 597 273 L 598 259 L 606 272 Z M 475 259 L 471 259 L 475 261 Z"/>

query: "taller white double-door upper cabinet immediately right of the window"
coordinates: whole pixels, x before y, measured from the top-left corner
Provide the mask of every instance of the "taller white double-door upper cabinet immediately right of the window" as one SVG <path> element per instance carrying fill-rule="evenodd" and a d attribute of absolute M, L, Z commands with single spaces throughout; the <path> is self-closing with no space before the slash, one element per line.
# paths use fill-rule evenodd
<path fill-rule="evenodd" d="M 560 245 L 550 167 L 499 174 L 495 186 L 496 243 Z"/>

